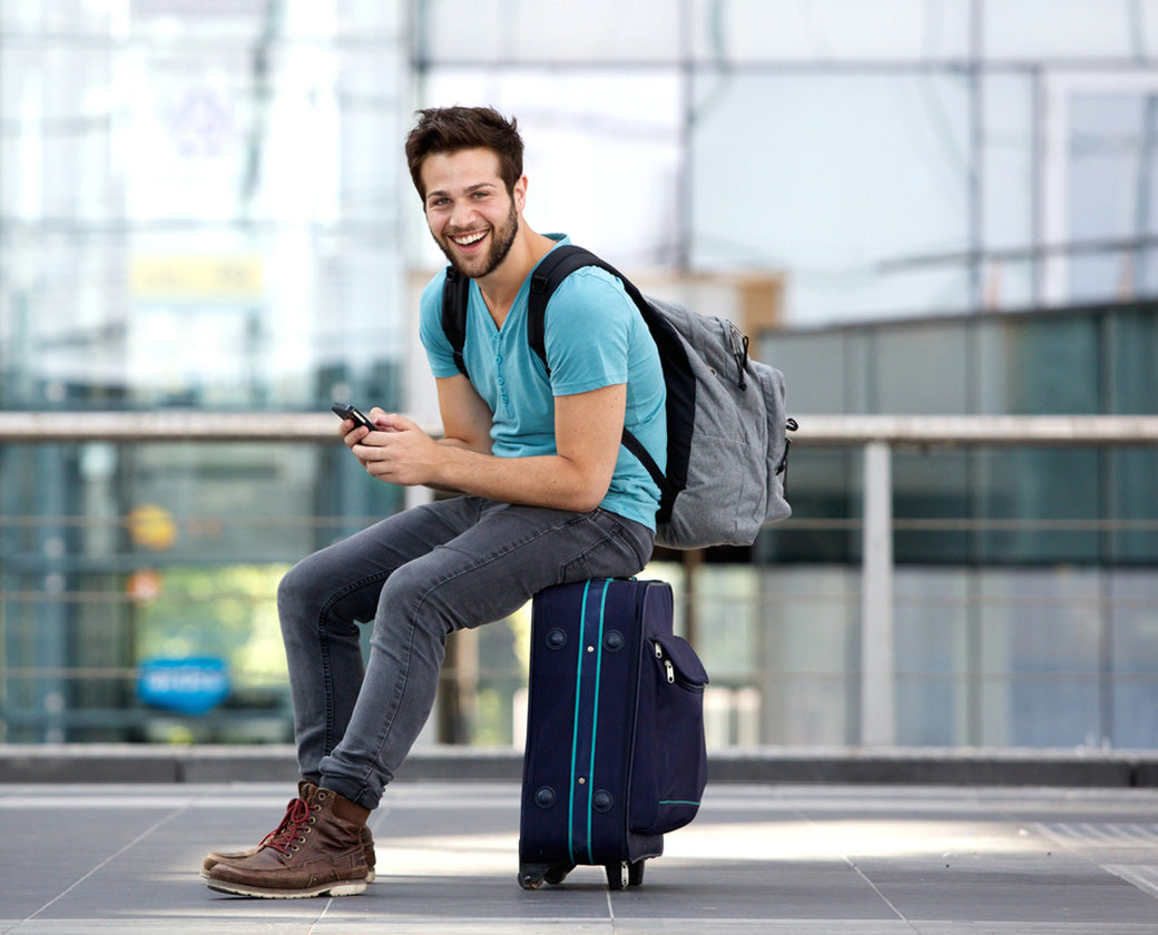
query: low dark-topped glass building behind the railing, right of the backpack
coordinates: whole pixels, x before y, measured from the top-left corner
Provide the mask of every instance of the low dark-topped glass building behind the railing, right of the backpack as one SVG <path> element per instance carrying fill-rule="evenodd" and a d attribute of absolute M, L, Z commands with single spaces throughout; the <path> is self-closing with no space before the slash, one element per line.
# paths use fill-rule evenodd
<path fill-rule="evenodd" d="M 1158 305 L 975 314 L 765 338 L 792 410 L 1158 412 Z M 906 744 L 1158 742 L 1158 451 L 893 451 L 897 736 Z M 793 521 L 765 530 L 777 739 L 858 730 L 862 452 L 796 446 Z M 855 570 L 842 570 L 849 568 Z M 767 693 L 765 693 L 767 694 Z M 805 724 L 806 727 L 801 727 Z"/>

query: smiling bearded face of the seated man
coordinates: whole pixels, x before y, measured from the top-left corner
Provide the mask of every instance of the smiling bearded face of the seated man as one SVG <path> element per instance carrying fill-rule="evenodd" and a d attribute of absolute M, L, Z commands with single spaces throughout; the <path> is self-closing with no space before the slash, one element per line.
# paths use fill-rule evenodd
<path fill-rule="evenodd" d="M 490 149 L 427 156 L 422 178 L 426 223 L 446 258 L 471 279 L 494 272 L 519 231 L 525 181 L 508 194 Z"/>

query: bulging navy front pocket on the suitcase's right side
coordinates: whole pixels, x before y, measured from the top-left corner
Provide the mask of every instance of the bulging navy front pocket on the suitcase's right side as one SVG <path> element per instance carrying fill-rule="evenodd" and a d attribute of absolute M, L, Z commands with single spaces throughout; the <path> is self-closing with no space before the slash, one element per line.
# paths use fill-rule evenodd
<path fill-rule="evenodd" d="M 708 783 L 704 686 L 691 646 L 672 635 L 647 647 L 639 685 L 640 730 L 631 781 L 631 830 L 664 834 L 696 817 Z"/>

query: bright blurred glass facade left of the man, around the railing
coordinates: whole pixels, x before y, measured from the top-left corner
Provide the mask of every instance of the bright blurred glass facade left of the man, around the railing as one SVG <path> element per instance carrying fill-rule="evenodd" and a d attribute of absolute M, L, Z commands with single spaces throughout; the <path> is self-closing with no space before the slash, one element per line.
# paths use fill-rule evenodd
<path fill-rule="evenodd" d="M 404 14 L 3 0 L 0 407 L 403 408 L 383 154 L 409 120 Z M 0 448 L 0 736 L 284 739 L 280 570 L 401 503 L 356 468 L 300 444 Z M 207 729 L 140 700 L 142 664 L 190 657 L 236 673 Z"/>

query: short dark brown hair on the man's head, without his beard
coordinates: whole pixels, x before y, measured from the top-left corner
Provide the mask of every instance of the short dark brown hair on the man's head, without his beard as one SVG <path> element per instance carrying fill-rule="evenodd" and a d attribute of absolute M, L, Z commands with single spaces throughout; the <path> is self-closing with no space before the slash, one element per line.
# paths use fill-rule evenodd
<path fill-rule="evenodd" d="M 437 153 L 490 149 L 499 157 L 499 177 L 507 193 L 522 177 L 522 138 L 518 122 L 507 120 L 493 108 L 427 108 L 418 111 L 418 123 L 406 137 L 406 164 L 418 196 L 423 187 L 423 162 Z"/>

